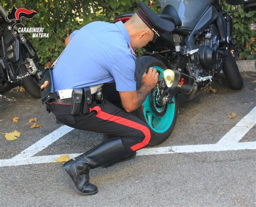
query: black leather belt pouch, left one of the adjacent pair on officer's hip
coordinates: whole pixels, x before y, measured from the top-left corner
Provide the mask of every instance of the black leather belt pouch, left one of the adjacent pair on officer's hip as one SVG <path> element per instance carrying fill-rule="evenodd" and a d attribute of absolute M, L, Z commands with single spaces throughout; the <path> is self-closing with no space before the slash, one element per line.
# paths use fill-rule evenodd
<path fill-rule="evenodd" d="M 71 99 L 71 115 L 80 115 L 83 108 L 83 88 L 73 88 Z"/>

